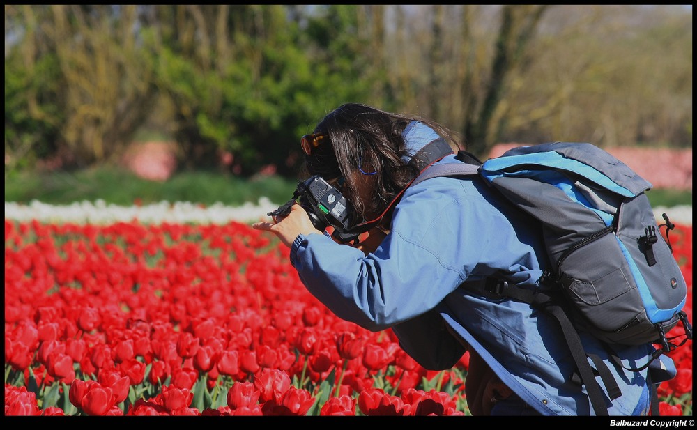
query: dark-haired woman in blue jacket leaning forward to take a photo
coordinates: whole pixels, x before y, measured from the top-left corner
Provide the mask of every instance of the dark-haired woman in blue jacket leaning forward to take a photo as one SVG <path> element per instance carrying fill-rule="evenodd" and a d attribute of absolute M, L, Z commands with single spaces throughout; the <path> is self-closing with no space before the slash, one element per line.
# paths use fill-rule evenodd
<path fill-rule="evenodd" d="M 342 244 L 317 230 L 298 204 L 287 216 L 254 224 L 290 247 L 291 264 L 310 293 L 346 321 L 372 331 L 392 328 L 427 369 L 449 369 L 470 351 L 465 390 L 473 415 L 594 415 L 553 318 L 463 286 L 503 274 L 538 288 L 546 262 L 530 228 L 534 221 L 477 176 L 408 186 L 432 164 L 460 162 L 447 130 L 350 103 L 325 116 L 301 143 L 309 174 L 342 192 L 351 224 L 371 228 L 362 243 Z M 601 344 L 581 336 L 585 350 L 599 355 L 618 381 L 622 395 L 606 398 L 610 415 L 646 415 L 647 370 L 615 367 Z M 646 361 L 647 348 L 617 352 L 631 367 Z M 663 359 L 668 378 L 675 369 Z"/>

